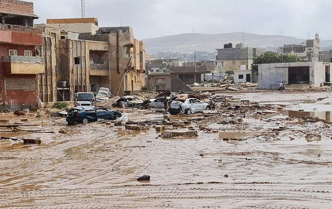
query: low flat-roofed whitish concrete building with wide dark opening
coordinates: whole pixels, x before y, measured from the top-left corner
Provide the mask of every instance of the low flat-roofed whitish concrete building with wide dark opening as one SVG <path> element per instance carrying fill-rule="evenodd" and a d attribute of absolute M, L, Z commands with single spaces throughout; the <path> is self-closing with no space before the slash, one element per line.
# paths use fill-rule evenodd
<path fill-rule="evenodd" d="M 285 89 L 308 89 L 331 82 L 332 63 L 290 62 L 258 65 L 260 89 L 278 89 L 281 82 Z"/>

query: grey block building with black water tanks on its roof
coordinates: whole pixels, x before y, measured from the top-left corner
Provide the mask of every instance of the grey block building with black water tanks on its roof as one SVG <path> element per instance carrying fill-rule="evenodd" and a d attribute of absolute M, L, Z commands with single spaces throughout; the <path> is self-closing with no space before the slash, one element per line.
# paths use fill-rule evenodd
<path fill-rule="evenodd" d="M 253 59 L 264 52 L 261 48 L 243 47 L 243 44 L 236 44 L 235 48 L 227 47 L 216 50 L 216 60 L 224 62 L 223 65 L 227 72 L 250 70 Z"/>

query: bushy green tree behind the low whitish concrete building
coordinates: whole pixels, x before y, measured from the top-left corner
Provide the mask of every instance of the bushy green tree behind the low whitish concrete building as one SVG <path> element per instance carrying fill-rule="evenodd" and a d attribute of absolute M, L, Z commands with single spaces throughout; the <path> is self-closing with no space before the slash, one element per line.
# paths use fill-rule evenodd
<path fill-rule="evenodd" d="M 252 71 L 258 71 L 257 64 L 267 63 L 282 63 L 282 62 L 303 62 L 303 59 L 298 58 L 295 54 L 281 54 L 273 51 L 267 51 L 258 57 L 254 58 L 251 65 Z"/>

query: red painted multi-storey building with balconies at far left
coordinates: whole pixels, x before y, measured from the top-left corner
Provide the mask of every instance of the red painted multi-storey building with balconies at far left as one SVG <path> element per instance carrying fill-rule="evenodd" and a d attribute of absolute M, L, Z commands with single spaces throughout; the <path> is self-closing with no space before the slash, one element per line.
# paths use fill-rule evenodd
<path fill-rule="evenodd" d="M 32 2 L 0 0 L 0 110 L 36 105 L 37 75 L 44 72 L 42 29 L 34 27 Z"/>

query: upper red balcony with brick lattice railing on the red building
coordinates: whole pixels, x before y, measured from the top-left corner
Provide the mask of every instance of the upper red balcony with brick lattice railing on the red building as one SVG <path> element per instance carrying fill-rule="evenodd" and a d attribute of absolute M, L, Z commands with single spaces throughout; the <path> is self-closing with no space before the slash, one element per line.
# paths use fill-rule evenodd
<path fill-rule="evenodd" d="M 0 24 L 0 43 L 42 45 L 42 29 Z"/>

